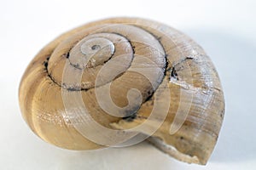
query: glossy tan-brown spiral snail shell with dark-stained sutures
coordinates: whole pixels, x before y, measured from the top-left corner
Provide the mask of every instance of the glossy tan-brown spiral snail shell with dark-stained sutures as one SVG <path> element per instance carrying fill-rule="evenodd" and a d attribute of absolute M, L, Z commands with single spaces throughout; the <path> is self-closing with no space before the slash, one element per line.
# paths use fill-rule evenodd
<path fill-rule="evenodd" d="M 203 49 L 152 20 L 113 18 L 57 37 L 28 65 L 20 110 L 32 131 L 69 150 L 147 139 L 206 164 L 224 117 L 218 73 Z"/>

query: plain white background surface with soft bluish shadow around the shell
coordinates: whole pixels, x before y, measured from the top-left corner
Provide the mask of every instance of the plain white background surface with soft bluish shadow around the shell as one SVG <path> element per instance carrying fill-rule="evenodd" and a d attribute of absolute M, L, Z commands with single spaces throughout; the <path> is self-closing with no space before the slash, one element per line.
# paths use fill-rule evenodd
<path fill-rule="evenodd" d="M 256 1 L 0 2 L 0 169 L 256 169 Z M 207 166 L 176 161 L 147 143 L 62 150 L 26 126 L 18 87 L 33 56 L 62 32 L 110 16 L 161 21 L 194 38 L 211 56 L 223 84 L 226 111 Z"/>

